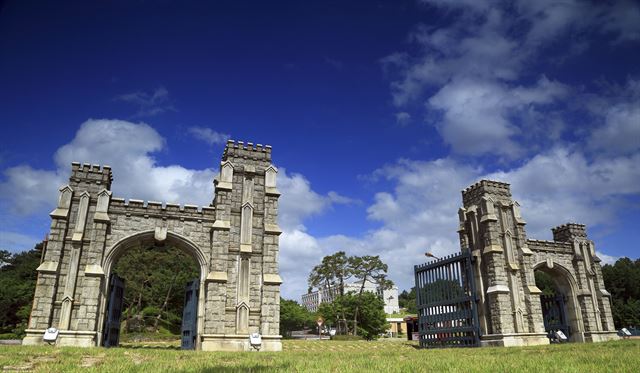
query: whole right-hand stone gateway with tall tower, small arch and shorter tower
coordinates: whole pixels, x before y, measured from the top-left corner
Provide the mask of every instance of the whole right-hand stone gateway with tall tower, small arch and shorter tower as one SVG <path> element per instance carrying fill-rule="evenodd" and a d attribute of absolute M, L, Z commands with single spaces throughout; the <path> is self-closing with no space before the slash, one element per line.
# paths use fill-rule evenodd
<path fill-rule="evenodd" d="M 552 229 L 553 241 L 527 239 L 509 184 L 482 180 L 462 191 L 460 245 L 475 257 L 482 345 L 546 344 L 534 270 L 552 271 L 569 287 L 573 340 L 618 338 L 600 259 L 581 224 Z"/>

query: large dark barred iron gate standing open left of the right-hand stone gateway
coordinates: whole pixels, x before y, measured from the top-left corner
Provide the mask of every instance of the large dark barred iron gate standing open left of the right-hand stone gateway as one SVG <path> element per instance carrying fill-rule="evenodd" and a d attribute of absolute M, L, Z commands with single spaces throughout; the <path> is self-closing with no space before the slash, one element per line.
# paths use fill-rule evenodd
<path fill-rule="evenodd" d="M 477 297 L 469 253 L 415 266 L 420 347 L 480 344 Z"/>

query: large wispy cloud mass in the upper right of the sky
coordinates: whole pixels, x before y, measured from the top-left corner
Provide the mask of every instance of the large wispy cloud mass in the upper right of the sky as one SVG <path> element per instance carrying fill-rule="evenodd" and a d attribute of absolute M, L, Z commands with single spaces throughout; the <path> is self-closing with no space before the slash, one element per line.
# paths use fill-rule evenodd
<path fill-rule="evenodd" d="M 640 7 L 626 1 L 422 2 L 452 21 L 417 26 L 409 35 L 417 52 L 395 52 L 381 63 L 395 106 L 423 102 L 427 122 L 456 154 L 513 160 L 561 144 L 567 130 L 561 108 L 580 105 L 571 102 L 580 88 L 545 76 L 532 82 L 543 51 L 559 40 L 567 43 L 566 53 L 549 57 L 558 63 L 589 48 L 585 34 L 611 34 L 618 41 L 640 35 Z M 638 126 L 630 123 L 636 115 L 632 106 L 610 110 L 607 128 L 592 146 L 602 149 L 635 135 Z M 623 149 L 633 147 L 628 139 Z"/>

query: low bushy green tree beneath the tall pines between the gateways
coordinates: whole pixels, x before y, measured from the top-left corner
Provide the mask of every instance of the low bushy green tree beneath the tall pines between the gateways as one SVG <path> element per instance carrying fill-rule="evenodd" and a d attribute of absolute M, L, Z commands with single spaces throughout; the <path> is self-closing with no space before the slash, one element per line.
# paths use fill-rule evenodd
<path fill-rule="evenodd" d="M 322 303 L 318 309 L 318 314 L 322 315 L 327 320 L 327 324 L 331 325 L 337 325 L 342 317 L 353 319 L 356 312 L 359 313 L 356 325 L 357 334 L 365 339 L 377 339 L 381 333 L 387 330 L 384 301 L 371 292 L 347 293 L 338 296 L 333 304 Z"/>

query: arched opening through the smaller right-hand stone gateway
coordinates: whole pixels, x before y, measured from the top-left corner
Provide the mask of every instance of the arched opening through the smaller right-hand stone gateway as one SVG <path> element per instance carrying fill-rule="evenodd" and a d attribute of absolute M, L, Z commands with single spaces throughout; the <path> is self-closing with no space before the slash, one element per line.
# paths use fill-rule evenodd
<path fill-rule="evenodd" d="M 571 273 L 554 264 L 541 263 L 534 267 L 535 283 L 540 289 L 540 308 L 544 329 L 550 340 L 562 331 L 571 342 L 584 342 L 583 323 L 576 297 L 576 283 Z"/>

